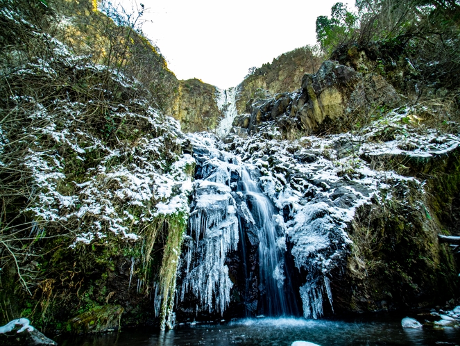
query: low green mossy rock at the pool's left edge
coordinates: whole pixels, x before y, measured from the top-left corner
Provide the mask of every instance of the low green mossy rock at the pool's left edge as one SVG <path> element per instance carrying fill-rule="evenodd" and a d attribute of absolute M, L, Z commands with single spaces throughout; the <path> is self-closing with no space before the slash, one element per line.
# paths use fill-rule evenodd
<path fill-rule="evenodd" d="M 92 308 L 67 322 L 70 333 L 101 333 L 119 329 L 123 308 L 119 305 L 105 305 Z"/>

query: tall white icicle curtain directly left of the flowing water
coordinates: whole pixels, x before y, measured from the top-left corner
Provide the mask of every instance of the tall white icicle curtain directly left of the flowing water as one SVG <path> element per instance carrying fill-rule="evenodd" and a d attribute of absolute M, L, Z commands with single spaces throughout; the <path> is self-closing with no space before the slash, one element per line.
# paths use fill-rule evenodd
<path fill-rule="evenodd" d="M 194 183 L 180 297 L 183 300 L 191 291 L 202 308 L 223 313 L 233 286 L 225 258 L 237 249 L 239 240 L 237 206 L 230 194 L 230 171 L 235 165 L 217 160 L 218 151 L 201 149 L 205 152 L 203 179 Z"/>

